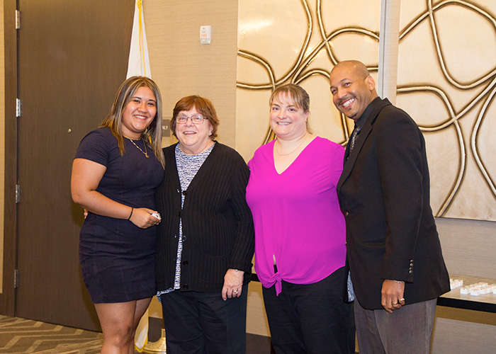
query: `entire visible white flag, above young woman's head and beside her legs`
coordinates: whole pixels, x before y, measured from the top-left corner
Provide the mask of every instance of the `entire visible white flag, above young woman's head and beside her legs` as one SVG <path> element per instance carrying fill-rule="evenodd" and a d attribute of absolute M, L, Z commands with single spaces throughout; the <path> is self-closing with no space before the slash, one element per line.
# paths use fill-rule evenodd
<path fill-rule="evenodd" d="M 129 50 L 128 74 L 131 76 L 147 76 L 152 79 L 150 58 L 148 57 L 147 35 L 145 33 L 145 18 L 143 17 L 142 0 L 136 0 L 135 17 L 133 20 L 133 34 Z M 135 335 L 135 348 L 140 353 L 148 342 L 148 310 L 142 316 Z"/>

